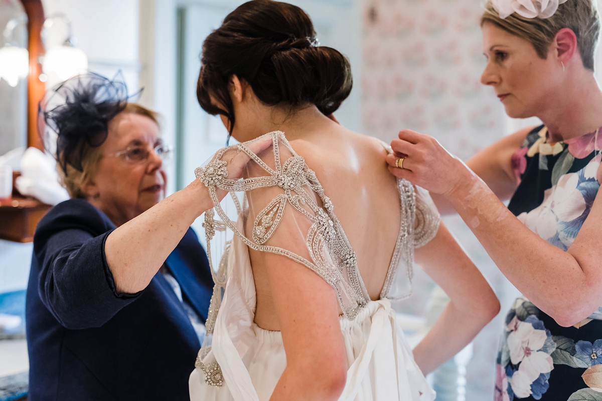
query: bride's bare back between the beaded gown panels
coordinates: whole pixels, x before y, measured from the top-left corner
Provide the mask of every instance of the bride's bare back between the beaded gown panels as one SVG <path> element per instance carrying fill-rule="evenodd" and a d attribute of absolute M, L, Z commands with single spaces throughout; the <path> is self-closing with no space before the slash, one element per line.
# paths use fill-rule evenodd
<path fill-rule="evenodd" d="M 386 168 L 387 152 L 378 140 L 342 126 L 327 127 L 326 132 L 310 131 L 290 143 L 332 200 L 365 289 L 377 300 L 400 230 L 397 179 Z M 267 330 L 281 330 L 272 294 L 277 284 L 268 279 L 265 254 L 250 250 L 250 258 L 257 293 L 255 322 Z"/>

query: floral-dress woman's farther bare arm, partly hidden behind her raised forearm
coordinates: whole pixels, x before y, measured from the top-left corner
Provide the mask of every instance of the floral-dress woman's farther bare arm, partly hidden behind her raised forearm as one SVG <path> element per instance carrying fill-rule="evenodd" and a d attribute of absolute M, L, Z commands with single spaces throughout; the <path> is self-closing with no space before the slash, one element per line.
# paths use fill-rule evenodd
<path fill-rule="evenodd" d="M 500 200 L 510 199 L 517 189 L 512 170 L 512 154 L 520 148 L 533 127 L 523 128 L 504 136 L 466 161 L 468 168 L 480 177 Z M 431 194 L 441 214 L 455 214 L 453 205 L 441 194 Z"/>

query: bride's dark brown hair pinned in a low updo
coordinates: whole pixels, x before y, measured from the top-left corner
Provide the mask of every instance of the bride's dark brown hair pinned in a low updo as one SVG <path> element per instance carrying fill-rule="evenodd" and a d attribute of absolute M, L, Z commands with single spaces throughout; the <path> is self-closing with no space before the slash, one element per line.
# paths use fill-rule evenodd
<path fill-rule="evenodd" d="M 240 5 L 203 43 L 196 87 L 200 107 L 225 115 L 232 133 L 228 82 L 236 75 L 268 106 L 312 103 L 329 115 L 351 92 L 351 67 L 338 50 L 317 44 L 311 19 L 301 8 L 272 0 Z M 212 104 L 209 95 L 225 109 Z"/>

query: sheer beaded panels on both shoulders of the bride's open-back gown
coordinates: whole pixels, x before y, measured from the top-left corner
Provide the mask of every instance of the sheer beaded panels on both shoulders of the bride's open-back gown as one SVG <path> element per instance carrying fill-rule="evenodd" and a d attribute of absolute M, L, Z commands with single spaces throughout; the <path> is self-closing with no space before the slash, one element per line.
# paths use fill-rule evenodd
<path fill-rule="evenodd" d="M 253 142 L 265 140 L 266 136 L 272 139 L 272 146 L 258 154 L 252 152 Z M 238 152 L 244 152 L 250 158 L 245 178 L 229 179 L 226 160 L 231 160 Z M 250 249 L 287 256 L 315 271 L 335 289 L 348 319 L 354 319 L 370 301 L 359 273 L 358 256 L 337 219 L 327 188 L 322 187 L 314 170 L 294 151 L 284 133 L 274 131 L 224 148 L 213 161 L 199 167 L 196 175 L 209 188 L 216 205 L 215 212 L 221 219 L 216 220 L 213 211 L 205 214 L 203 226 L 209 254 L 213 252 L 210 243 L 216 230 L 228 228 Z M 226 215 L 217 201 L 218 188 L 244 193 L 233 197 L 242 225 L 237 226 Z M 389 253 L 391 259 L 380 291 L 380 297 L 394 300 L 411 294 L 414 248 L 427 243 L 439 225 L 439 216 L 426 192 L 405 180 L 397 181 L 397 192 L 399 201 L 390 200 L 399 208 L 396 220 L 383 223 L 399 226 L 399 234 L 392 255 Z M 365 210 L 365 213 L 370 213 L 370 210 Z M 226 263 L 223 262 L 213 272 L 216 289 L 207 321 L 208 331 L 212 328 L 225 288 L 225 268 Z"/>

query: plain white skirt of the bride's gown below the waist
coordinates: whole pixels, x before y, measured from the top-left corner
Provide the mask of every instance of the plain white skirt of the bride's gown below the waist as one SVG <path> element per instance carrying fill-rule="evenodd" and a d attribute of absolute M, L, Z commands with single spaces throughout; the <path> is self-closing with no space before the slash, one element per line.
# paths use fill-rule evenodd
<path fill-rule="evenodd" d="M 353 321 L 341 316 L 340 323 L 349 370 L 339 400 L 432 401 L 435 399 L 435 392 L 429 387 L 415 364 L 412 351 L 403 333 L 397 328 L 395 313 L 388 300 L 371 301 Z M 228 380 L 227 367 L 224 369 L 224 364 L 220 363 L 225 378 L 222 387 L 206 384 L 205 374 L 200 369 L 195 369 L 191 373 L 189 382 L 191 401 L 267 401 L 270 399 L 287 364 L 282 335 L 279 331 L 264 330 L 255 324 L 252 327 L 255 339 L 247 352 L 242 358 L 239 357 L 238 352 L 234 355 L 226 355 L 228 358 L 226 364 L 237 365 L 236 360 L 242 361 L 253 389 L 248 388 L 249 383 L 245 383 L 245 377 L 240 377 L 240 380 L 236 377 Z"/>

